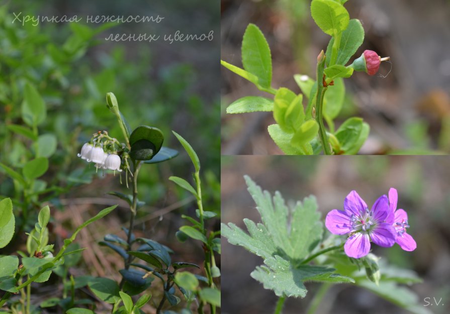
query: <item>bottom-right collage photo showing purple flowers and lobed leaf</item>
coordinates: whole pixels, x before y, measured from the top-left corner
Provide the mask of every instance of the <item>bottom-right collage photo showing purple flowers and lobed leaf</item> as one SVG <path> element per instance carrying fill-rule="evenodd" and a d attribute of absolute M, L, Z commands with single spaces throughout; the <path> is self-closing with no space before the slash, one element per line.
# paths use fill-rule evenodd
<path fill-rule="evenodd" d="M 446 156 L 224 156 L 223 312 L 448 312 L 449 169 Z"/>

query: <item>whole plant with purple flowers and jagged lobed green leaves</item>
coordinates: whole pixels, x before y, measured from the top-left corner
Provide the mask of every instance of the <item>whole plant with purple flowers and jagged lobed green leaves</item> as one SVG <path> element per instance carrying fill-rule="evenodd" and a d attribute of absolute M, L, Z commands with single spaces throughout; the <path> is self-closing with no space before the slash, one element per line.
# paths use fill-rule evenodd
<path fill-rule="evenodd" d="M 366 202 L 351 191 L 344 200 L 343 211 L 332 210 L 325 219 L 330 233 L 324 236 L 323 223 L 314 196 L 287 205 L 283 196 L 262 191 L 245 176 L 261 223 L 244 219 L 248 233 L 235 224 L 222 224 L 222 235 L 263 259 L 263 265 L 250 274 L 279 296 L 275 313 L 282 312 L 288 297 L 305 297 L 306 281 L 321 282 L 309 309 L 316 311 L 331 284 L 353 284 L 372 291 L 413 313 L 429 313 L 418 304 L 415 293 L 400 284 L 413 284 L 421 279 L 411 270 L 391 266 L 370 253 L 371 240 L 381 247 L 398 243 L 405 251 L 416 249 L 404 210 L 397 210 L 397 190 L 389 197 L 380 196 L 369 210 Z M 347 235 L 344 239 L 340 235 Z"/>

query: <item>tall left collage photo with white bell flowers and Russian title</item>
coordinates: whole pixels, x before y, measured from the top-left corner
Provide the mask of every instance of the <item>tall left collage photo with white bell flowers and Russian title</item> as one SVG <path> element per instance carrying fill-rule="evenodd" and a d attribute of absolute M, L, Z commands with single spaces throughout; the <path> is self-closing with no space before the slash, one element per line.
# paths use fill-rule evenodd
<path fill-rule="evenodd" d="M 0 3 L 0 313 L 220 313 L 220 1 Z"/>

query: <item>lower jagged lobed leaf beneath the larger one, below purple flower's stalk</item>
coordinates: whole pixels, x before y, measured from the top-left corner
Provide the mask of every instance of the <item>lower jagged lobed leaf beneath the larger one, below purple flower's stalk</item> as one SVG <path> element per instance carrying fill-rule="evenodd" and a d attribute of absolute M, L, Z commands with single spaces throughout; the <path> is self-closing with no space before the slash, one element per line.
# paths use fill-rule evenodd
<path fill-rule="evenodd" d="M 350 277 L 333 274 L 333 268 L 310 265 L 294 268 L 280 256 L 266 259 L 264 264 L 256 267 L 250 276 L 278 296 L 305 297 L 307 292 L 305 281 L 354 282 Z"/>

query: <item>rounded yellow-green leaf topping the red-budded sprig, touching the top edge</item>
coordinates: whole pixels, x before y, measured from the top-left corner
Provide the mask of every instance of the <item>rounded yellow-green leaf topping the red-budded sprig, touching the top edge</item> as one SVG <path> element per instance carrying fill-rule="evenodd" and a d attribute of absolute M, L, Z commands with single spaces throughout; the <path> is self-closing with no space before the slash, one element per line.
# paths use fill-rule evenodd
<path fill-rule="evenodd" d="M 347 10 L 333 0 L 313 0 L 311 16 L 320 29 L 330 36 L 344 31 L 350 20 Z"/>

